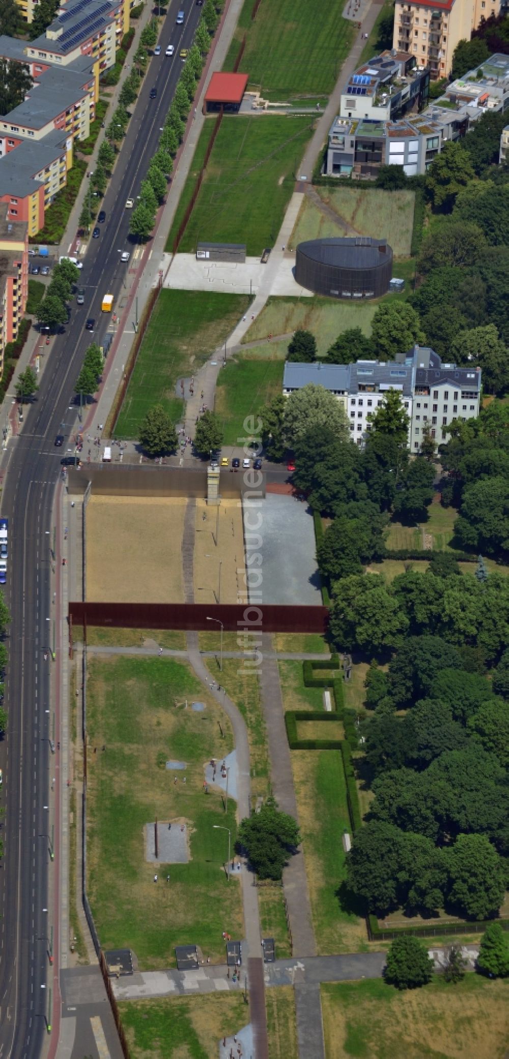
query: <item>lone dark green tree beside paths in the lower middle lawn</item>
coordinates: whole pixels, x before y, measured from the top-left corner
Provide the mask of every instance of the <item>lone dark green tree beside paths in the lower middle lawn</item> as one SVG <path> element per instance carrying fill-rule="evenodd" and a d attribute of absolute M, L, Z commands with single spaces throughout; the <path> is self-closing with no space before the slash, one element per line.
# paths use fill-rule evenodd
<path fill-rule="evenodd" d="M 273 797 L 266 798 L 259 812 L 244 818 L 237 831 L 237 847 L 246 849 L 259 879 L 279 880 L 299 842 L 296 821 L 280 812 Z"/>

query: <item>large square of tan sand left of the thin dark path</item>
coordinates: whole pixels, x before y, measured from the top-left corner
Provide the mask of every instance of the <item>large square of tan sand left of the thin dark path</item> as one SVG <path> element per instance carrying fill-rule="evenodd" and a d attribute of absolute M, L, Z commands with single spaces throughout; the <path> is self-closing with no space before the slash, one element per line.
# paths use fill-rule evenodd
<path fill-rule="evenodd" d="M 87 599 L 183 603 L 183 497 L 92 496 Z"/>

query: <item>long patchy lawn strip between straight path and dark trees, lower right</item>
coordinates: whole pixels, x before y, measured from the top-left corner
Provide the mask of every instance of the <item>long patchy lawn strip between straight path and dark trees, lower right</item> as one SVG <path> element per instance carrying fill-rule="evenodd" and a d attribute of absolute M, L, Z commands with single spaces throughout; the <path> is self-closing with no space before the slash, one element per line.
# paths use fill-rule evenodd
<path fill-rule="evenodd" d="M 346 874 L 342 836 L 350 829 L 338 750 L 291 752 L 311 916 L 321 955 L 366 949 L 363 919 L 346 912 L 338 893 Z"/>

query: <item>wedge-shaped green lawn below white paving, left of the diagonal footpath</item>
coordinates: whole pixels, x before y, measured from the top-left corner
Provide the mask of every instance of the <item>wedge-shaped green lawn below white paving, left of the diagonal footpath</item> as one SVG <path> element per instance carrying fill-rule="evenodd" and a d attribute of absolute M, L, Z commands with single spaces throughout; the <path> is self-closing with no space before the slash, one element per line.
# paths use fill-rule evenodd
<path fill-rule="evenodd" d="M 147 411 L 162 403 L 175 423 L 183 402 L 177 382 L 193 375 L 224 342 L 248 308 L 247 294 L 162 290 L 142 342 L 115 437 L 137 437 Z"/>

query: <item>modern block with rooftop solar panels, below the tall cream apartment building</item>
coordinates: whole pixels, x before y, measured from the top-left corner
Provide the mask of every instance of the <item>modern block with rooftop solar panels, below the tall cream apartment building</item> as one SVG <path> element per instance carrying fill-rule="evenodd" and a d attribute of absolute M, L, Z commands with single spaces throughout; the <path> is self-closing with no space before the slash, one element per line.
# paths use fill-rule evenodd
<path fill-rule="evenodd" d="M 351 74 L 341 93 L 344 118 L 389 121 L 421 110 L 430 93 L 430 71 L 408 52 L 381 52 Z"/>

